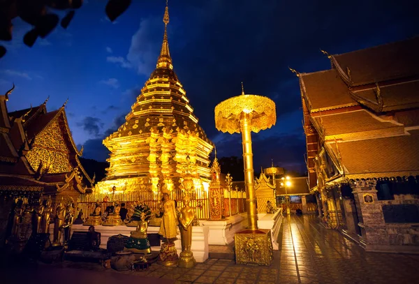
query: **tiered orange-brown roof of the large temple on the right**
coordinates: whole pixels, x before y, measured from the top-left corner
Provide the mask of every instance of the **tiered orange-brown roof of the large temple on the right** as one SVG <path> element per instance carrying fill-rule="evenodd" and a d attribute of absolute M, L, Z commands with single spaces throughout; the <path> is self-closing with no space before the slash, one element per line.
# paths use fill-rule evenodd
<path fill-rule="evenodd" d="M 311 190 L 318 179 L 419 174 L 419 37 L 328 55 L 300 77 Z"/>

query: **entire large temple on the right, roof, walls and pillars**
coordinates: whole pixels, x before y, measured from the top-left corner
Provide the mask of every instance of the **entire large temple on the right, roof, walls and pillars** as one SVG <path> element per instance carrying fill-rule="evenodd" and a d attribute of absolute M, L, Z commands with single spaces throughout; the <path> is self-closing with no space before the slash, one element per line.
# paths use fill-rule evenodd
<path fill-rule="evenodd" d="M 419 245 L 419 37 L 297 73 L 309 190 L 325 225 L 368 251 Z M 416 246 L 414 246 L 416 245 Z"/>

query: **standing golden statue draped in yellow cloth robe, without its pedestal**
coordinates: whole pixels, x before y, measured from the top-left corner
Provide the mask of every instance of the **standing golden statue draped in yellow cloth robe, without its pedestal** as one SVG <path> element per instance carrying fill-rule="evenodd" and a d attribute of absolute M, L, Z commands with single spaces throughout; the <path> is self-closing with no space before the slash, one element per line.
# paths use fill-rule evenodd
<path fill-rule="evenodd" d="M 166 239 L 166 242 L 172 243 L 177 236 L 177 216 L 175 209 L 175 201 L 170 200 L 168 193 L 163 193 L 163 217 L 159 234 Z"/>

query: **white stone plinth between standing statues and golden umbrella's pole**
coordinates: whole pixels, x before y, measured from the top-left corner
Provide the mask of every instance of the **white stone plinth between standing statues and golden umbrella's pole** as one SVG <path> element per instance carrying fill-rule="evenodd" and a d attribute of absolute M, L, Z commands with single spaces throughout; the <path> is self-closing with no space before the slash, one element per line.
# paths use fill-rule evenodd
<path fill-rule="evenodd" d="M 230 216 L 222 221 L 201 221 L 200 223 L 209 230 L 208 244 L 226 246 L 233 243 L 234 234 L 246 227 L 245 216 L 244 213 Z"/>

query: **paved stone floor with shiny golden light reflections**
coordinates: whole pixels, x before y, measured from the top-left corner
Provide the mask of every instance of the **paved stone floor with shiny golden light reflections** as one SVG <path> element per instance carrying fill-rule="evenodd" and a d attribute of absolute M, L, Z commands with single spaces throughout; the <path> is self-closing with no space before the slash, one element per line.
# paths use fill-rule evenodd
<path fill-rule="evenodd" d="M 339 232 L 325 229 L 314 216 L 284 218 L 279 232 L 279 246 L 280 251 L 274 252 L 274 262 L 270 267 L 237 265 L 233 260 L 210 259 L 193 269 L 153 264 L 148 271 L 118 272 L 104 269 L 99 264 L 64 262 L 38 264 L 34 277 L 45 275 L 41 271 L 50 271 L 56 275 L 54 277 L 61 278 L 57 282 L 60 284 L 418 283 L 419 255 L 366 253 Z M 29 282 L 38 283 L 30 274 L 26 270 L 27 278 L 33 280 Z M 50 282 L 45 281 L 42 283 Z"/>

